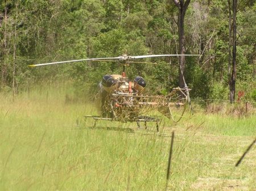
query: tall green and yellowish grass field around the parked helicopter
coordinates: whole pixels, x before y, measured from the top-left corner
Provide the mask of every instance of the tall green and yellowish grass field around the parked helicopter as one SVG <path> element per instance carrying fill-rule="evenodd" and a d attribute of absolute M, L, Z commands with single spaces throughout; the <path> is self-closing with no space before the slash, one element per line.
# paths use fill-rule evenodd
<path fill-rule="evenodd" d="M 256 190 L 256 116 L 196 113 L 155 128 L 85 121 L 92 103 L 65 101 L 72 92 L 37 88 L 0 95 L 0 190 Z M 155 126 L 151 124 L 151 126 Z"/>

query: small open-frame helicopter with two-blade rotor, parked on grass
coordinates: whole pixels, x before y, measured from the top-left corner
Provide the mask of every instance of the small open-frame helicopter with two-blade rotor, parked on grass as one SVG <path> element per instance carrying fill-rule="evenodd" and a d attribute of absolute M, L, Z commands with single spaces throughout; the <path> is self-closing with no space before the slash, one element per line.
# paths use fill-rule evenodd
<path fill-rule="evenodd" d="M 118 62 L 118 65 L 122 66 L 122 74 L 104 75 L 99 84 L 100 88 L 96 97 L 100 100 L 100 116 L 86 115 L 85 117 L 93 118 L 93 120 L 95 120 L 94 126 L 96 125 L 96 121 L 98 120 L 137 122 L 138 128 L 140 128 L 139 122 L 144 122 L 144 127 L 145 129 L 147 129 L 147 122 L 155 122 L 156 130 L 159 131 L 159 117 L 148 116 L 145 114 L 148 114 L 153 110 L 157 110 L 158 112 L 162 113 L 163 116 L 171 118 L 174 122 L 180 121 L 188 104 L 190 105 L 192 111 L 191 100 L 189 98 L 190 89 L 185 83 L 184 88 L 173 88 L 170 94 L 166 96 L 144 94 L 144 90 L 146 88 L 146 81 L 141 76 L 135 77 L 134 80 L 130 80 L 129 78 L 127 78 L 126 66 L 129 66 L 133 63 L 152 63 L 134 61 L 141 58 L 174 56 L 200 55 L 154 54 L 143 56 L 129 56 L 127 54 L 122 54 L 118 57 L 87 58 L 81 60 L 40 63 L 29 66 L 36 67 L 81 61 Z"/>

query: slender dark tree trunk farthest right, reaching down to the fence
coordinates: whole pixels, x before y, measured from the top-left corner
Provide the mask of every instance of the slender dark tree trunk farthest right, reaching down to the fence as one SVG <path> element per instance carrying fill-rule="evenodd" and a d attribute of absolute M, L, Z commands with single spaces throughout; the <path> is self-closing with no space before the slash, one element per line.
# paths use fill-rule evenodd
<path fill-rule="evenodd" d="M 236 56 L 237 56 L 237 0 L 233 0 L 233 52 L 232 52 L 232 76 L 229 82 L 229 99 L 232 103 L 234 103 L 235 99 L 235 90 L 236 90 Z"/>

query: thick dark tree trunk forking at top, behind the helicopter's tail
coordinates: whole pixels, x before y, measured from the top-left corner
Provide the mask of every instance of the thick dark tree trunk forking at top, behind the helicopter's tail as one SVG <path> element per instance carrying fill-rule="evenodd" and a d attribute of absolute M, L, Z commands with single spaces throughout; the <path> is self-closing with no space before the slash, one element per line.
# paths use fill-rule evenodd
<path fill-rule="evenodd" d="M 185 54 L 185 35 L 184 35 L 184 18 L 185 12 L 187 11 L 190 0 L 173 0 L 176 7 L 179 9 L 179 15 L 177 20 L 177 27 L 179 33 L 179 54 Z M 179 71 L 179 87 L 184 88 L 184 72 L 185 72 L 185 56 L 180 56 L 179 60 L 180 71 Z"/>

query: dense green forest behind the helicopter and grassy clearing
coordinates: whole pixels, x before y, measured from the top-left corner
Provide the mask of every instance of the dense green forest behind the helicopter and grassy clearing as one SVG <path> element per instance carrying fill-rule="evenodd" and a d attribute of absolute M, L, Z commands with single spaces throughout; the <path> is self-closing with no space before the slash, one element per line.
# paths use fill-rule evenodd
<path fill-rule="evenodd" d="M 181 1 L 183 2 L 183 1 Z M 184 76 L 195 99 L 229 99 L 232 75 L 232 1 L 191 0 L 184 17 Z M 129 55 L 178 54 L 179 9 L 171 0 L 2 0 L 0 2 L 1 92 L 19 94 L 34 84 L 72 82 L 80 95 L 95 90 L 112 62 L 79 62 L 30 68 L 31 63 Z M 256 3 L 238 1 L 236 93 L 255 101 Z M 131 65 L 152 92 L 179 85 L 179 58 L 151 58 L 157 65 Z M 93 91 L 90 91 L 93 92 Z"/>

